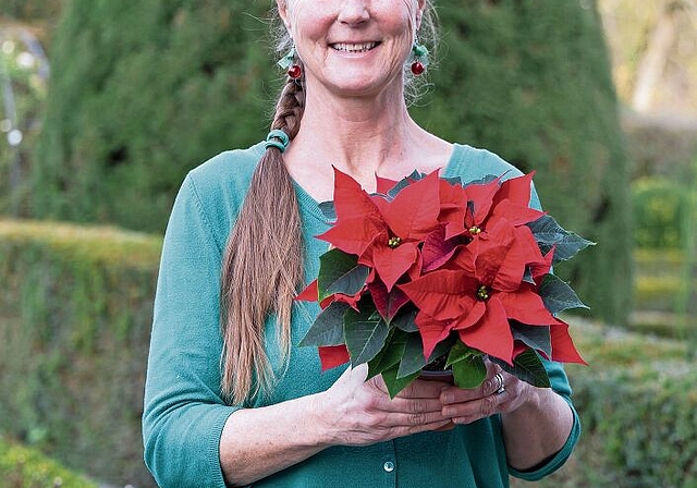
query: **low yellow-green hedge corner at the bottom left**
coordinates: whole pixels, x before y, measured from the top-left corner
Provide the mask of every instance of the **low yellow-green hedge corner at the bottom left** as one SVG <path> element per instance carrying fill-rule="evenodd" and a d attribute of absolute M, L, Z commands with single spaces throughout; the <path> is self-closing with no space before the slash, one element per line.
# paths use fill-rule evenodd
<path fill-rule="evenodd" d="M 97 488 L 87 478 L 28 449 L 0 437 L 0 479 L 15 488 Z"/>

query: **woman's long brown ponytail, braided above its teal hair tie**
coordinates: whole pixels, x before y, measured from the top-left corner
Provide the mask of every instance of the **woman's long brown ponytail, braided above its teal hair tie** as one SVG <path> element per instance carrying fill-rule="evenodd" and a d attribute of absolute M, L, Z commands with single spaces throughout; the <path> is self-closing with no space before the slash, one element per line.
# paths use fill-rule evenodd
<path fill-rule="evenodd" d="M 271 129 L 293 139 L 305 108 L 302 83 L 289 80 Z M 264 329 L 278 318 L 278 342 L 288 358 L 291 310 L 303 283 L 303 235 L 295 187 L 276 147 L 266 150 L 231 231 L 221 277 L 222 393 L 243 403 L 272 382 Z"/>

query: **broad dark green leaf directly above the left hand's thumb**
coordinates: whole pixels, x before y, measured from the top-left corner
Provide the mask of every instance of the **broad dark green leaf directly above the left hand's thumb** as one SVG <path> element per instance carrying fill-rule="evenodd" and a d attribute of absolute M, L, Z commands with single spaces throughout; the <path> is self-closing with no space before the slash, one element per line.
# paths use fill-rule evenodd
<path fill-rule="evenodd" d="M 388 325 L 375 312 L 348 308 L 344 314 L 344 339 L 354 367 L 377 356 L 388 338 Z"/>

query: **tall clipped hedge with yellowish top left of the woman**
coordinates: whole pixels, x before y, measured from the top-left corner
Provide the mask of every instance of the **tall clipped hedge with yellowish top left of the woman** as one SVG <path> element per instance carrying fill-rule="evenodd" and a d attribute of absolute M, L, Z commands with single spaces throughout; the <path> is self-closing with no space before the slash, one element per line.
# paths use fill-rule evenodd
<path fill-rule="evenodd" d="M 139 418 L 161 240 L 0 220 L 0 431 L 100 479 L 152 481 Z"/>

